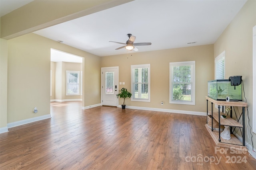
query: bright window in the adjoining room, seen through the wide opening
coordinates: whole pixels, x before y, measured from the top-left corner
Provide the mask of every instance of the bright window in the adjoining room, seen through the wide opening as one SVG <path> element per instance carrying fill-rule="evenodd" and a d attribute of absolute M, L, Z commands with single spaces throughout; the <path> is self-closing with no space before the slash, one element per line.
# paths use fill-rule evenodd
<path fill-rule="evenodd" d="M 66 71 L 66 95 L 80 95 L 80 71 Z"/>

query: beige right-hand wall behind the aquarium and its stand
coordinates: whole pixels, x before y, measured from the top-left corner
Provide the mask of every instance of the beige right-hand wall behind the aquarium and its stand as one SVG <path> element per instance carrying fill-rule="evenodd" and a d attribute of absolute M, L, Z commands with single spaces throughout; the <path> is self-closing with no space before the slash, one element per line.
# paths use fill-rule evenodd
<path fill-rule="evenodd" d="M 256 25 L 256 1 L 248 0 L 222 35 L 214 43 L 214 57 L 226 51 L 225 78 L 240 75 L 244 82 L 244 92 L 248 103 L 248 116 L 252 126 L 252 27 Z M 243 96 L 243 95 L 242 95 Z M 245 102 L 245 98 L 243 97 Z M 256 122 L 254 122 L 256 123 Z M 250 130 L 250 127 L 248 127 Z M 238 132 L 239 133 L 239 132 Z M 247 134 L 247 129 L 246 129 Z M 250 134 L 250 133 L 249 133 Z M 256 134 L 253 142 L 256 143 Z M 246 141 L 250 142 L 246 135 Z"/>

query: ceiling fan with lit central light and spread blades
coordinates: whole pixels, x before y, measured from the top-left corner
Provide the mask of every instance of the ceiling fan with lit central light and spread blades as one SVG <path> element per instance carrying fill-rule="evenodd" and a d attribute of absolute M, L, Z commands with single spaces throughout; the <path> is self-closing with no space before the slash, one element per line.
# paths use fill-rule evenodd
<path fill-rule="evenodd" d="M 127 34 L 127 37 L 129 37 L 129 39 L 126 41 L 126 43 L 119 43 L 119 42 L 115 42 L 115 41 L 109 41 L 112 43 L 118 43 L 118 44 L 124 44 L 124 46 L 117 48 L 116 50 L 122 49 L 122 48 L 126 48 L 129 51 L 138 51 L 139 49 L 135 46 L 139 46 L 139 45 L 151 45 L 151 43 L 134 43 L 136 37 L 132 36 L 132 34 Z"/>

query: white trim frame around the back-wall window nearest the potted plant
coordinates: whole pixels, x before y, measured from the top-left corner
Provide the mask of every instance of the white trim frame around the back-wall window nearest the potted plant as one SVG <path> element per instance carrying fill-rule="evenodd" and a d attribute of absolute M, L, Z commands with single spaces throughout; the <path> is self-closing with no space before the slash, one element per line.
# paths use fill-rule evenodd
<path fill-rule="evenodd" d="M 137 64 L 131 65 L 131 93 L 133 93 L 133 69 L 134 68 L 148 68 L 148 99 L 134 99 L 131 97 L 131 101 L 135 102 L 150 102 L 150 64 Z"/>

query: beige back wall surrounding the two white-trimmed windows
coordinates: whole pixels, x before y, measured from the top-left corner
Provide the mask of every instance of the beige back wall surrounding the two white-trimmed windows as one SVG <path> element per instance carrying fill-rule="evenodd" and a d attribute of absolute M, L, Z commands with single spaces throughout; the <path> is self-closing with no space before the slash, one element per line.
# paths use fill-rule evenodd
<path fill-rule="evenodd" d="M 196 105 L 169 104 L 169 63 L 196 61 Z M 134 102 L 128 99 L 126 105 L 177 109 L 186 111 L 206 111 L 207 82 L 213 79 L 213 45 L 132 53 L 102 57 L 101 67 L 119 66 L 119 89 L 131 89 L 130 70 L 134 64 L 150 64 L 151 102 Z M 164 102 L 164 105 L 161 105 Z M 121 100 L 119 101 L 121 103 Z"/>

